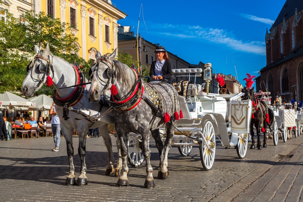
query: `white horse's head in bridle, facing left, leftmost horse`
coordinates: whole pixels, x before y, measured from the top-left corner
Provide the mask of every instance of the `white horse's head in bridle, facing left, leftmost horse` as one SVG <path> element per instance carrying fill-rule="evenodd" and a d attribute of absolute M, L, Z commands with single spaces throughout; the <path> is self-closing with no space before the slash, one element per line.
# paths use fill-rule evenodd
<path fill-rule="evenodd" d="M 49 51 L 48 44 L 43 51 L 35 45 L 35 55 L 27 66 L 27 75 L 22 83 L 22 94 L 32 96 L 35 89 L 40 89 L 47 83 L 47 77 L 54 77 L 53 67 L 51 65 L 52 53 Z"/>

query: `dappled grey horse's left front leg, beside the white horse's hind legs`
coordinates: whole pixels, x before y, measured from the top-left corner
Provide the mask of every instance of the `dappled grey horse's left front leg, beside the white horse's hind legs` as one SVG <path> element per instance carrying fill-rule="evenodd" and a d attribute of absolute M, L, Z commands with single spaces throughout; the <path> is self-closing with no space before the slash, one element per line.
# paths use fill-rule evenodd
<path fill-rule="evenodd" d="M 128 173 L 128 166 L 127 166 L 127 133 L 125 133 L 122 129 L 116 126 L 117 135 L 120 140 L 121 145 L 121 158 L 122 158 L 122 170 L 119 177 L 119 180 L 117 182 L 117 186 L 128 186 L 128 179 L 127 179 L 127 173 Z"/>

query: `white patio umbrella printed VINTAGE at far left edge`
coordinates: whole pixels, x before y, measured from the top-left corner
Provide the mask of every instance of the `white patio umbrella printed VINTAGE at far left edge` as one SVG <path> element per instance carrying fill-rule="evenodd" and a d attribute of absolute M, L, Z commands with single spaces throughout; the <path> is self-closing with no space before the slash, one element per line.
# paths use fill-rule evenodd
<path fill-rule="evenodd" d="M 0 105 L 3 107 L 35 107 L 35 103 L 10 92 L 0 94 Z"/>

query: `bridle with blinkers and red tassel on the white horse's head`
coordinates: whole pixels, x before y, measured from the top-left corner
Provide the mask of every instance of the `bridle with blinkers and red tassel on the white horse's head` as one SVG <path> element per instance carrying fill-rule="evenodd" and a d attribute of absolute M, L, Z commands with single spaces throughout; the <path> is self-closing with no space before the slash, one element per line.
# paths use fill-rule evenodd
<path fill-rule="evenodd" d="M 41 53 L 42 52 L 43 51 L 41 51 Z M 32 69 L 32 72 L 31 72 L 32 79 L 34 79 L 35 81 L 39 81 L 38 84 L 35 86 L 35 90 L 39 88 L 39 86 L 41 85 L 42 82 L 44 82 L 46 73 L 48 73 L 48 75 L 50 75 L 50 71 L 52 71 L 53 72 L 52 79 L 54 78 L 54 75 L 55 75 L 54 67 L 51 64 L 51 60 L 50 60 L 49 55 L 47 56 L 48 58 L 45 58 L 45 57 L 39 56 L 39 53 L 40 52 L 38 52 L 37 55 L 35 55 L 34 62 L 32 62 L 32 64 L 29 65 L 28 69 L 27 69 L 27 72 L 29 72 Z M 45 65 L 45 64 L 42 63 L 42 61 L 39 60 L 39 62 L 41 62 L 41 63 L 38 65 L 38 69 L 39 69 L 39 72 L 41 72 L 43 74 L 42 79 L 35 79 L 33 77 L 33 71 L 34 71 L 33 66 L 35 64 L 35 61 L 38 60 L 38 59 L 43 59 L 47 62 L 46 65 Z"/>

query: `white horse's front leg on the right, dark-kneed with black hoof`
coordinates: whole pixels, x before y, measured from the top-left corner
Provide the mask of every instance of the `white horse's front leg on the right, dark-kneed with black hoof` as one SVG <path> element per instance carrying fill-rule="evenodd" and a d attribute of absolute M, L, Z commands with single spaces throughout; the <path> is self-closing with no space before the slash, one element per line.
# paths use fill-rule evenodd
<path fill-rule="evenodd" d="M 81 160 L 81 172 L 77 179 L 77 186 L 86 185 L 87 183 L 87 177 L 86 177 L 86 164 L 85 164 L 85 150 L 86 150 L 86 132 L 88 131 L 88 128 L 83 126 L 81 127 L 81 133 L 79 134 L 79 148 L 78 153 Z"/>

